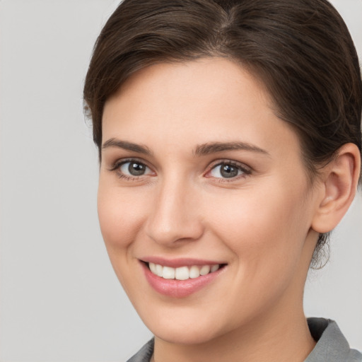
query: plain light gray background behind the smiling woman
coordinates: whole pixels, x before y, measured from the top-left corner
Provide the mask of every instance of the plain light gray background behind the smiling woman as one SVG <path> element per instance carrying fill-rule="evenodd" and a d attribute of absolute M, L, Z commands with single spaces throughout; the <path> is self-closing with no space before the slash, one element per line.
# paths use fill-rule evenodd
<path fill-rule="evenodd" d="M 151 333 L 107 259 L 82 114 L 95 37 L 118 1 L 0 2 L 0 361 L 126 361 Z M 362 0 L 334 0 L 362 56 Z M 362 197 L 305 291 L 362 350 Z"/>

